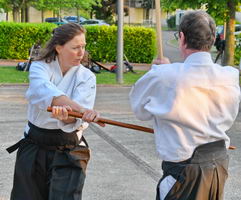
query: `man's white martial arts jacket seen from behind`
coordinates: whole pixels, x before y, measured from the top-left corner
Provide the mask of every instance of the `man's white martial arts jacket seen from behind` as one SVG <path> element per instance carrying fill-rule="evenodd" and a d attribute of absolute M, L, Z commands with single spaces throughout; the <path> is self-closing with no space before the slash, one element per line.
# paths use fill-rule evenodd
<path fill-rule="evenodd" d="M 230 139 L 240 102 L 239 71 L 214 64 L 207 52 L 184 63 L 153 65 L 130 92 L 140 120 L 152 120 L 157 151 L 166 161 L 183 161 L 195 147 Z"/>

